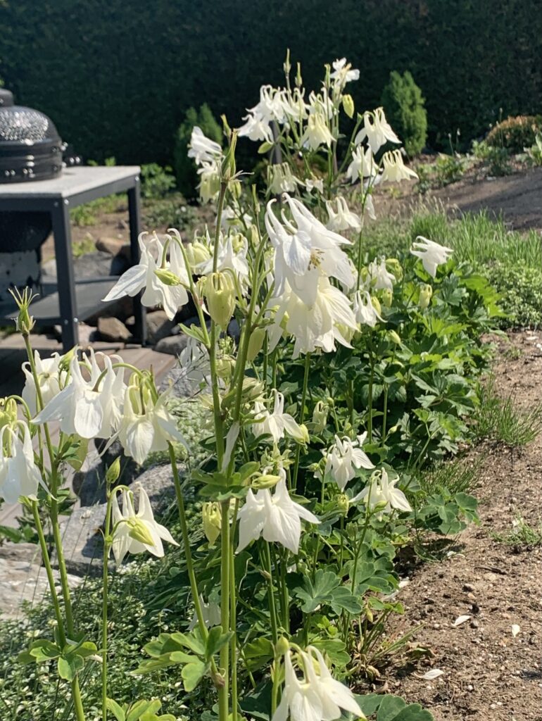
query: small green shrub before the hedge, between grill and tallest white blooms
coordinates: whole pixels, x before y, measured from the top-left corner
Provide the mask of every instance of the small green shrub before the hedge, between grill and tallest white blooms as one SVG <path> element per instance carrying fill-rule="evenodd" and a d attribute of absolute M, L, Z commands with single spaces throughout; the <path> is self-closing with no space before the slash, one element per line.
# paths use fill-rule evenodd
<path fill-rule="evenodd" d="M 185 120 L 182 121 L 177 129 L 173 154 L 177 187 L 185 198 L 190 199 L 197 198 L 197 172 L 194 162 L 187 156 L 190 135 L 195 125 L 198 125 L 202 129 L 205 136 L 222 144 L 222 128 L 218 125 L 207 103 L 204 102 L 203 105 L 200 106 L 200 110 L 196 110 L 195 107 L 189 107 L 185 115 Z"/>

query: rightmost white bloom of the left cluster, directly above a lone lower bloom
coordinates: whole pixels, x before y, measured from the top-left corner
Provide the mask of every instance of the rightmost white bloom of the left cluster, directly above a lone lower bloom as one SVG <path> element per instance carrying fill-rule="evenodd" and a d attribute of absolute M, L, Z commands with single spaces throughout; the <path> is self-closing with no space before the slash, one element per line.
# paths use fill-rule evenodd
<path fill-rule="evenodd" d="M 150 390 L 133 384 L 125 391 L 118 437 L 124 452 L 140 466 L 151 451 L 166 451 L 168 442 L 186 446 L 174 417 L 166 407 L 166 394 L 154 402 Z"/>

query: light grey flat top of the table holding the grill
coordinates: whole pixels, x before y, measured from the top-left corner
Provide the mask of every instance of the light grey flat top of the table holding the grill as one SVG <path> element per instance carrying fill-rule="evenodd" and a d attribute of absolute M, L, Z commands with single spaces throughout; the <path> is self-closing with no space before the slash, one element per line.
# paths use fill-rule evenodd
<path fill-rule="evenodd" d="M 115 183 L 129 182 L 138 177 L 138 165 L 67 167 L 50 180 L 0 183 L 0 198 L 70 198 Z"/>

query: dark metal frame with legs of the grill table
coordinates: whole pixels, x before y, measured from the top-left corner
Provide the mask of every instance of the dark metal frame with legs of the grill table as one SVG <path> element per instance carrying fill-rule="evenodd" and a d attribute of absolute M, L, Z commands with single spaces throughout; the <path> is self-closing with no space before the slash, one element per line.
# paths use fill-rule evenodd
<path fill-rule="evenodd" d="M 69 172 L 70 169 L 66 171 Z M 85 168 L 78 168 L 77 171 L 85 171 Z M 91 170 L 89 168 L 89 170 Z M 108 169 L 103 168 L 102 171 Z M 41 183 L 50 183 L 51 181 L 35 181 L 28 183 L 17 183 L 17 190 L 12 190 L 14 186 L 10 186 L 9 193 L 2 194 L 3 185 L 0 185 L 0 211 L 45 211 L 50 213 L 53 224 L 53 236 L 55 242 L 55 262 L 57 272 L 57 291 L 58 304 L 60 309 L 60 318 L 62 326 L 62 345 L 66 352 L 73 348 L 79 340 L 79 331 L 77 324 L 79 317 L 77 314 L 76 303 L 76 280 L 74 278 L 74 259 L 72 255 L 71 245 L 71 224 L 70 224 L 70 208 L 76 208 L 77 205 L 89 203 L 97 198 L 105 198 L 107 195 L 115 195 L 115 193 L 127 193 L 128 195 L 128 216 L 130 223 L 130 255 L 133 263 L 139 260 L 139 244 L 138 235 L 141 226 L 141 193 L 140 193 L 140 168 L 133 167 L 112 167 L 110 170 L 116 170 L 115 176 L 111 180 L 103 180 L 95 187 L 89 187 L 85 190 L 77 190 L 74 187 L 71 190 L 63 191 L 46 191 L 40 193 Z M 119 172 L 120 171 L 120 172 Z M 122 171 L 126 171 L 123 173 Z M 122 177 L 118 177 L 118 176 Z M 32 193 L 25 193 L 28 186 L 32 185 Z M 76 184 L 75 184 L 76 185 Z M 18 197 L 19 195 L 19 197 Z M 23 197 L 24 196 L 24 197 Z M 91 279 L 84 280 L 84 283 L 92 283 Z M 103 280 L 97 278 L 95 280 Z M 146 341 L 146 322 L 145 309 L 141 305 L 141 293 L 133 298 L 133 313 L 135 318 L 135 337 L 141 345 Z"/>

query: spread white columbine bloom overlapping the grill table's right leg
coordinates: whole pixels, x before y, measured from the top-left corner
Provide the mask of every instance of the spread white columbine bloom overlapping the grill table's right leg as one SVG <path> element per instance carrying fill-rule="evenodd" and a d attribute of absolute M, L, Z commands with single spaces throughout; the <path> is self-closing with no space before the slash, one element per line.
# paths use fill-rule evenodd
<path fill-rule="evenodd" d="M 162 256 L 164 255 L 164 246 L 161 244 L 158 236 L 154 234 L 151 241 L 146 244 L 143 242 L 147 233 L 141 233 L 139 236 L 139 247 L 141 249 L 141 258 L 137 265 L 128 268 L 128 270 L 120 276 L 115 286 L 111 288 L 104 301 L 113 301 L 123 296 L 136 296 L 139 291 L 144 288 L 141 303 L 147 308 L 154 306 L 162 306 L 167 317 L 172 320 L 177 311 L 188 302 L 188 294 L 185 285 L 188 285 L 188 275 L 182 252 L 177 243 L 172 241 L 169 243 L 169 260 L 161 265 Z M 163 283 L 156 270 L 169 270 L 179 278 L 179 285 L 167 285 Z"/>

